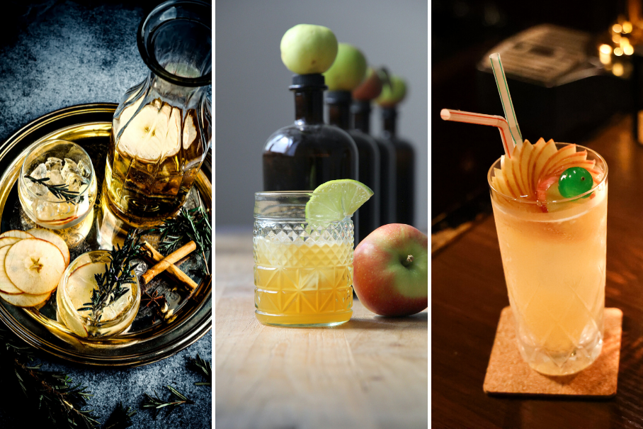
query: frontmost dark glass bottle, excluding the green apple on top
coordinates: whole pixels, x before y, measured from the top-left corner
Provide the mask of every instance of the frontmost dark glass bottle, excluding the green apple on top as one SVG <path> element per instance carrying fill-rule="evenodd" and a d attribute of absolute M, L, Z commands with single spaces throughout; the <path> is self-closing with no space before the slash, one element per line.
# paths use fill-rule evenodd
<path fill-rule="evenodd" d="M 324 124 L 324 89 L 322 74 L 292 77 L 295 123 L 275 131 L 263 147 L 264 191 L 311 191 L 329 180 L 358 180 L 355 142 Z"/>

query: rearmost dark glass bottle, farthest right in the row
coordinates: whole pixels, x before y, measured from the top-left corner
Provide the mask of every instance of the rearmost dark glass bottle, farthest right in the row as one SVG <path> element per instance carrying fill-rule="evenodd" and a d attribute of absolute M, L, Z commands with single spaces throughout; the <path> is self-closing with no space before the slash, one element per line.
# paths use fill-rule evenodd
<path fill-rule="evenodd" d="M 397 138 L 397 108 L 382 108 L 382 138 L 395 147 L 396 223 L 414 224 L 415 213 L 415 150 L 411 143 Z"/>

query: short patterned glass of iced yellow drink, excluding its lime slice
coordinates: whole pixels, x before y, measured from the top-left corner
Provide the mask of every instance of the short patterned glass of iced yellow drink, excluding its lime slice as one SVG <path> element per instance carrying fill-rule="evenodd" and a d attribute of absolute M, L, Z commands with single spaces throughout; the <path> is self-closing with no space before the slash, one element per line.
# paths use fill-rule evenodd
<path fill-rule="evenodd" d="M 255 313 L 266 325 L 334 326 L 353 314 L 353 222 L 307 220 L 311 196 L 255 194 Z"/>

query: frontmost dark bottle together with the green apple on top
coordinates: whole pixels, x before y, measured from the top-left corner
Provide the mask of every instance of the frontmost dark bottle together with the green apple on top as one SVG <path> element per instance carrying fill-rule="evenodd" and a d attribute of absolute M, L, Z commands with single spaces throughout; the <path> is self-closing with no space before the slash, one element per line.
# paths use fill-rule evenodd
<path fill-rule="evenodd" d="M 315 189 L 334 179 L 358 179 L 358 150 L 346 131 L 324 124 L 323 72 L 337 54 L 328 28 L 300 24 L 281 41 L 284 65 L 294 72 L 295 123 L 275 131 L 263 147 L 263 189 Z"/>

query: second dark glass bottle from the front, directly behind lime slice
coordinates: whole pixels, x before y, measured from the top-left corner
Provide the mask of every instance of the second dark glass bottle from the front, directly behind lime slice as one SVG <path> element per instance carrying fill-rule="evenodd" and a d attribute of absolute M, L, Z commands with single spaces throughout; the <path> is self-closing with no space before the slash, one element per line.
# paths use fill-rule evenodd
<path fill-rule="evenodd" d="M 380 150 L 370 135 L 353 128 L 351 124 L 351 91 L 326 92 L 329 123 L 346 130 L 357 145 L 359 157 L 358 180 L 373 191 L 373 196 L 358 210 L 360 225 L 355 234 L 355 245 L 380 226 Z"/>

